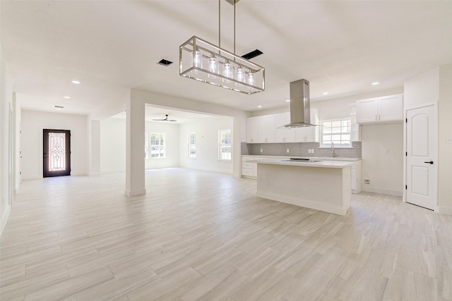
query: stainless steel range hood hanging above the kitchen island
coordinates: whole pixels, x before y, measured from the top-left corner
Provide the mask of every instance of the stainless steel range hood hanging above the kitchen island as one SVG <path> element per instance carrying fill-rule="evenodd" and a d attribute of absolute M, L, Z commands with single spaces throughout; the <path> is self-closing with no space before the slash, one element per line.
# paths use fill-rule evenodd
<path fill-rule="evenodd" d="M 309 82 L 296 80 L 290 82 L 290 123 L 278 128 L 302 128 L 305 126 L 316 126 L 311 124 Z"/>

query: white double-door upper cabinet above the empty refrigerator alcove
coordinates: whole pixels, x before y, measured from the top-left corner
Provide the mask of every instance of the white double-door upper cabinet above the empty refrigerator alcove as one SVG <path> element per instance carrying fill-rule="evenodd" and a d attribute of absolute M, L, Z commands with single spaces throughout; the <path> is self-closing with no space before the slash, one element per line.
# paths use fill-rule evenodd
<path fill-rule="evenodd" d="M 356 118 L 359 124 L 403 121 L 403 94 L 358 100 Z"/>

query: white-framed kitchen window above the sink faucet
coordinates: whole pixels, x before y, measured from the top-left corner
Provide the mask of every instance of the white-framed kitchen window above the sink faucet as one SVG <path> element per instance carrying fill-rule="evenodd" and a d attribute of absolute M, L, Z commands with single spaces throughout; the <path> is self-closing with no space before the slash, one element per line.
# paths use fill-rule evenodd
<path fill-rule="evenodd" d="M 340 122 L 340 125 L 337 123 Z M 347 122 L 344 125 L 343 122 Z M 336 123 L 336 125 L 335 125 Z M 335 148 L 351 148 L 352 147 L 352 119 L 351 118 L 337 118 L 321 121 L 321 137 L 320 147 L 331 147 L 331 143 L 334 143 Z M 329 126 L 328 126 L 329 125 Z M 347 140 L 348 135 L 348 140 Z M 328 136 L 331 140 L 326 140 Z"/>

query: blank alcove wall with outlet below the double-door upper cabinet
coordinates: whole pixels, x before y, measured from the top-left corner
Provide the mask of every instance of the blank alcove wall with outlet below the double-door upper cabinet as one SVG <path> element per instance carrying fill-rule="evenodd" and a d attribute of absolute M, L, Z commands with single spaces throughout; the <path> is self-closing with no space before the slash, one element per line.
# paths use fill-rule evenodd
<path fill-rule="evenodd" d="M 403 194 L 403 123 L 362 125 L 364 191 Z M 369 179 L 370 184 L 364 184 Z"/>

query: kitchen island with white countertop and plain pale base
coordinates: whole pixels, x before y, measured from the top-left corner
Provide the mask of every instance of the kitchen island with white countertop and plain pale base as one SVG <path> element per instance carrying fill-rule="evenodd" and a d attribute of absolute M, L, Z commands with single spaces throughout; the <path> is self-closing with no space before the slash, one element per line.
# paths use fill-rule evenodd
<path fill-rule="evenodd" d="M 350 161 L 261 159 L 257 197 L 345 215 L 350 208 Z"/>

